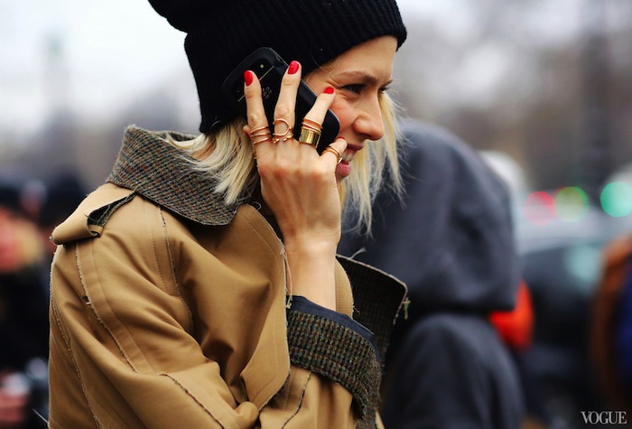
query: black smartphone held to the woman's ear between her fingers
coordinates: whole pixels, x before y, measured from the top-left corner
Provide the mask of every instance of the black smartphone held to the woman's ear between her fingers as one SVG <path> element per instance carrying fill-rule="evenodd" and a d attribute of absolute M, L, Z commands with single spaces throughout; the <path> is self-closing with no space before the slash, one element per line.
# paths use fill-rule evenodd
<path fill-rule="evenodd" d="M 281 89 L 281 79 L 288 65 L 278 53 L 271 48 L 259 48 L 241 61 L 233 70 L 222 85 L 222 94 L 228 103 L 235 109 L 235 112 L 246 117 L 246 96 L 244 95 L 244 72 L 253 71 L 261 82 L 262 95 L 264 99 L 265 116 L 268 124 L 272 128 L 274 121 L 274 106 L 279 98 Z M 294 138 L 298 139 L 301 134 L 302 118 L 316 102 L 316 94 L 301 80 L 298 95 L 296 98 L 296 120 L 294 121 Z M 322 122 L 322 134 L 316 150 L 319 154 L 333 142 L 338 136 L 340 124 L 338 117 L 330 110 L 327 110 L 325 119 Z"/>

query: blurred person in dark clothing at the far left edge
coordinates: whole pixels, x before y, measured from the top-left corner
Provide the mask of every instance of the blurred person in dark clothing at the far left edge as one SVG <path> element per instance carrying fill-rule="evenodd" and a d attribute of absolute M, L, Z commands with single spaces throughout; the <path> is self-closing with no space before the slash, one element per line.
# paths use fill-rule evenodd
<path fill-rule="evenodd" d="M 48 284 L 21 187 L 0 182 L 0 428 L 45 427 Z"/>

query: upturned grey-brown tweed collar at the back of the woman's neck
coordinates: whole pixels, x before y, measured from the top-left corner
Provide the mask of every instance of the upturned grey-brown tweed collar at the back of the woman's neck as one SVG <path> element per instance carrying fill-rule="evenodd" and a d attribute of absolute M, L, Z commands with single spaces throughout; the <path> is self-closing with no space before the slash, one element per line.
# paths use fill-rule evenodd
<path fill-rule="evenodd" d="M 166 142 L 168 135 L 176 141 L 194 137 L 128 126 L 107 182 L 133 190 L 186 219 L 227 225 L 240 204 L 227 206 L 223 195 L 215 191 L 217 179 L 193 168 L 189 155 Z"/>

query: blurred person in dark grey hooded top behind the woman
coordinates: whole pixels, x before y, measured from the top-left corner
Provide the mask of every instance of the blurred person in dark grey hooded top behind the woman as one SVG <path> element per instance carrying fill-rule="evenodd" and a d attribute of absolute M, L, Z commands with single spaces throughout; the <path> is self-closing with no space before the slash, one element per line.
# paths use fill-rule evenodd
<path fill-rule="evenodd" d="M 505 184 L 457 137 L 403 126 L 404 201 L 374 204 L 370 238 L 343 233 L 343 255 L 408 285 L 386 362 L 383 419 L 392 429 L 515 429 L 525 415 L 516 362 L 490 322 L 520 284 Z M 524 300 L 524 298 L 523 298 Z M 527 347 L 529 303 L 507 338 Z"/>

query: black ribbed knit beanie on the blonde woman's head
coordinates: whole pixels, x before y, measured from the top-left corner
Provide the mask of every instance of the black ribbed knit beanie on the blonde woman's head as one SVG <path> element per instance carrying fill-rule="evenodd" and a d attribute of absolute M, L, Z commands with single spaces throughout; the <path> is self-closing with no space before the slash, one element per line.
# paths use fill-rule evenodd
<path fill-rule="evenodd" d="M 395 0 L 149 0 L 175 28 L 187 33 L 184 46 L 200 97 L 200 131 L 236 114 L 221 85 L 246 56 L 262 46 L 285 61 L 299 61 L 302 73 L 354 46 L 406 29 Z"/>

